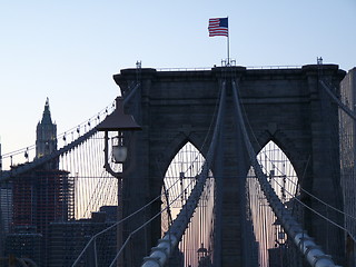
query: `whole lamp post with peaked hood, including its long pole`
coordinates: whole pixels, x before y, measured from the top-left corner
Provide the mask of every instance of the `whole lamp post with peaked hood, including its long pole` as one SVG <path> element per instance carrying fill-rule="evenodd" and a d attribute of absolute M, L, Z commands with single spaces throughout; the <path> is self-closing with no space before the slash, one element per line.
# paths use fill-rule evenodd
<path fill-rule="evenodd" d="M 113 164 L 123 164 L 128 150 L 125 146 L 125 132 L 140 130 L 141 127 L 135 121 L 131 115 L 123 112 L 123 102 L 121 97 L 116 98 L 116 109 L 101 123 L 97 126 L 98 131 L 105 132 L 105 169 L 118 179 L 118 221 L 122 219 L 122 170 L 116 171 L 111 168 L 110 160 Z M 109 156 L 109 132 L 117 132 L 111 138 L 111 157 Z M 118 225 L 118 249 L 122 245 L 122 224 Z M 118 259 L 118 266 L 123 266 L 122 256 Z"/>

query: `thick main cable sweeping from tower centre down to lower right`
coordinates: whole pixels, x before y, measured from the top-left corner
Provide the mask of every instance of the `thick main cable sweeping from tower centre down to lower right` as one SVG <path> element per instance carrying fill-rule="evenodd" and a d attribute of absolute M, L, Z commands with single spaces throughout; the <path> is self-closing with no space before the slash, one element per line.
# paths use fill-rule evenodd
<path fill-rule="evenodd" d="M 254 151 L 253 145 L 249 140 L 246 126 L 243 118 L 241 108 L 239 105 L 237 86 L 233 81 L 233 93 L 234 103 L 237 110 L 237 122 L 241 128 L 243 138 L 245 146 L 251 161 L 253 168 L 259 181 L 260 188 L 263 189 L 271 209 L 274 210 L 276 217 L 279 219 L 281 226 L 288 234 L 288 236 L 294 240 L 300 253 L 305 256 L 306 260 L 313 267 L 336 267 L 335 263 L 330 257 L 328 257 L 314 240 L 304 231 L 301 226 L 291 216 L 290 210 L 286 209 L 281 204 L 280 199 L 276 195 L 275 190 L 271 188 L 267 180 L 266 175 L 263 172 L 260 165 L 257 161 L 256 152 Z"/>

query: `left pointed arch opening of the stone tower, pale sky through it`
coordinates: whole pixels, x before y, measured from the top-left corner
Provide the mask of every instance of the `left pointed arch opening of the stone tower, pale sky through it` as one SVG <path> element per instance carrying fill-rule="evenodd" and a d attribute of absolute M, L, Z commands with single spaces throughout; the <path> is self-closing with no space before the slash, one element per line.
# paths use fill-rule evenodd
<path fill-rule="evenodd" d="M 166 211 L 168 201 L 170 210 L 170 214 L 162 212 L 161 215 L 162 235 L 168 230 L 167 219 L 175 220 L 187 202 L 205 160 L 199 149 L 190 141 L 187 141 L 171 160 L 165 174 L 164 184 L 166 187 L 162 188 L 162 191 L 166 190 L 167 192 L 167 195 L 162 194 L 162 210 Z M 197 246 L 200 249 L 205 247 L 206 260 L 211 260 L 214 238 L 210 234 L 215 226 L 215 179 L 210 170 L 189 226 L 178 244 L 180 257 L 176 256 L 174 260 L 181 258 L 180 260 L 184 260 L 186 265 L 198 266 Z M 191 239 L 191 235 L 195 235 L 196 238 Z M 192 244 L 187 245 L 188 240 Z"/>

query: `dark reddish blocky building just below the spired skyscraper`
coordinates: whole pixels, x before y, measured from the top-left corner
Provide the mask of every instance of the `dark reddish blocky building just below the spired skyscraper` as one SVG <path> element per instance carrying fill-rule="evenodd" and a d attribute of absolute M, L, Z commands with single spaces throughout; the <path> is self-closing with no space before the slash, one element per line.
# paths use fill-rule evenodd
<path fill-rule="evenodd" d="M 63 170 L 36 169 L 12 184 L 13 226 L 36 226 L 43 234 L 50 221 L 69 219 L 73 185 Z"/>

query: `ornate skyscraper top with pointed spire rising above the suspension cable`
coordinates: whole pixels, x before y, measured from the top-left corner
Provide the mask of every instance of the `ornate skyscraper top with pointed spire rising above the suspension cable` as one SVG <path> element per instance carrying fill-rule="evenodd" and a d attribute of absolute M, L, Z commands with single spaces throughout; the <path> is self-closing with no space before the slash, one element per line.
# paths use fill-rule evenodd
<path fill-rule="evenodd" d="M 57 150 L 57 125 L 52 122 L 47 98 L 42 120 L 37 125 L 36 158 L 43 157 Z"/>

